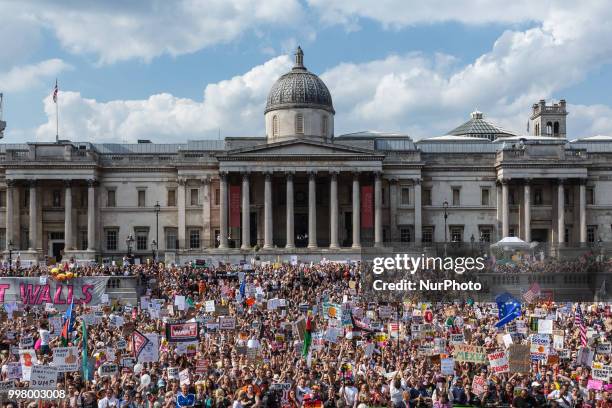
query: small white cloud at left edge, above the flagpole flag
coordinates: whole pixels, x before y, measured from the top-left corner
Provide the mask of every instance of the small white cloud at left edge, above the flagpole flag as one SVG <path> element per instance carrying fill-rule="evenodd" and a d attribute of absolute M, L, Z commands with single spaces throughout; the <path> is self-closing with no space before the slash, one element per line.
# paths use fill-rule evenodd
<path fill-rule="evenodd" d="M 0 91 L 20 92 L 38 86 L 46 80 L 51 92 L 53 85 L 51 79 L 68 69 L 72 67 L 57 58 L 31 65 L 15 66 L 7 72 L 0 71 Z"/>

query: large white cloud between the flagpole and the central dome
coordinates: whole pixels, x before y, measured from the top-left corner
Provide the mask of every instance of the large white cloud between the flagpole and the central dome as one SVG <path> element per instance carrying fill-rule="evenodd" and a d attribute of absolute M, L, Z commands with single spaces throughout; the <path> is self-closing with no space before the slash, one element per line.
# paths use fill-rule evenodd
<path fill-rule="evenodd" d="M 60 137 L 91 142 L 157 143 L 223 136 L 261 136 L 266 96 L 274 81 L 291 67 L 287 56 L 276 57 L 244 75 L 204 90 L 202 102 L 157 94 L 144 100 L 100 102 L 78 92 L 59 95 Z M 47 123 L 36 130 L 40 141 L 55 138 L 55 105 L 44 100 Z"/>

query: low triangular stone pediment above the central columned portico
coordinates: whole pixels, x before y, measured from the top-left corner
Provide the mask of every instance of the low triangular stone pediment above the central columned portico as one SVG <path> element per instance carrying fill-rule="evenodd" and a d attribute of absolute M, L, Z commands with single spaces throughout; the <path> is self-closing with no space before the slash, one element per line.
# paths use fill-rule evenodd
<path fill-rule="evenodd" d="M 374 150 L 312 140 L 289 140 L 229 150 L 223 156 L 368 156 Z"/>

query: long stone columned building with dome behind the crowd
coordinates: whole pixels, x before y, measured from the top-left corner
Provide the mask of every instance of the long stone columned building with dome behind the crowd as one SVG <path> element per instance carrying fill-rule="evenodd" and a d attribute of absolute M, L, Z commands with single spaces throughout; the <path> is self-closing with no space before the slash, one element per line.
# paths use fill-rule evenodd
<path fill-rule="evenodd" d="M 612 241 L 612 137 L 570 141 L 565 100 L 535 103 L 528 135 L 481 112 L 419 141 L 335 135 L 332 95 L 298 48 L 263 114 L 263 137 L 0 144 L 4 257 L 349 259 L 398 242 Z"/>

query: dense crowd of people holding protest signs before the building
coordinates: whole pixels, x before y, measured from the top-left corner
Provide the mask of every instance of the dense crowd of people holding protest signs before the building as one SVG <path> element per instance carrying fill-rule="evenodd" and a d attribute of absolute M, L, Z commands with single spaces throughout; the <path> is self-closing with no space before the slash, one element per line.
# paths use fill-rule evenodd
<path fill-rule="evenodd" d="M 51 324 L 63 310 L 5 304 L 3 408 L 612 407 L 610 304 L 534 300 L 498 328 L 495 304 L 367 299 L 361 266 L 350 262 L 70 268 L 75 279 L 133 276 L 141 293 L 134 304 L 111 298 L 74 305 L 65 337 Z M 50 267 L 2 269 L 4 277 L 46 275 Z M 92 314 L 98 318 L 84 318 Z M 541 334 L 534 319 L 552 320 L 552 332 Z M 168 325 L 183 323 L 196 324 L 195 340 L 175 342 L 168 334 Z M 141 335 L 156 339 L 147 340 L 153 360 L 139 354 Z M 512 344 L 547 336 L 549 345 L 520 372 L 470 361 L 507 352 L 506 335 Z M 78 348 L 79 369 L 57 380 L 66 398 L 8 398 L 8 387 L 28 387 L 9 378 L 26 337 L 35 343 L 36 364 L 49 365 L 56 348 Z M 460 357 L 458 344 L 478 351 Z"/>

